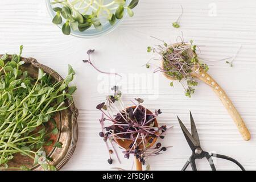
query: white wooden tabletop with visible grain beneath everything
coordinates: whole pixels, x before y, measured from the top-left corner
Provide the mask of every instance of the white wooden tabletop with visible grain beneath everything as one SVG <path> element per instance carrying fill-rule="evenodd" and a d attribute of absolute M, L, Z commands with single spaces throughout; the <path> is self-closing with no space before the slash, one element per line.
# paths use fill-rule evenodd
<path fill-rule="evenodd" d="M 171 23 L 184 14 L 180 28 Z M 93 62 L 104 71 L 122 73 L 124 100 L 143 97 L 149 109 L 162 109 L 160 123 L 174 126 L 163 143 L 173 146 L 163 155 L 150 159 L 151 169 L 180 170 L 191 155 L 191 150 L 177 125 L 176 115 L 189 127 L 189 110 L 195 118 L 206 151 L 216 151 L 237 159 L 246 169 L 256 169 L 256 2 L 209 1 L 209 0 L 141 0 L 133 18 L 126 18 L 113 32 L 96 39 L 79 39 L 64 36 L 51 23 L 44 0 L 0 1 L 0 52 L 16 53 L 24 45 L 23 56 L 35 57 L 65 76 L 67 64 L 76 70 L 74 84 L 77 85 L 76 106 L 79 108 L 79 141 L 75 154 L 65 170 L 104 170 L 111 167 L 131 169 L 132 159 L 122 156 L 122 164 L 114 158 L 107 162 L 108 152 L 98 137 L 100 113 L 96 105 L 105 100 L 114 82 L 96 72 L 90 65 L 82 63 L 88 49 L 96 49 Z M 146 52 L 147 46 L 158 41 L 150 36 L 175 42 L 181 35 L 185 40 L 193 39 L 202 46 L 201 57 L 219 60 L 232 57 L 242 45 L 240 53 L 230 68 L 225 61 L 213 61 L 209 73 L 226 90 L 251 132 L 251 140 L 245 142 L 221 102 L 204 84 L 199 84 L 192 98 L 184 96 L 183 88 L 152 70 L 142 67 L 153 55 Z M 133 76 L 148 76 L 150 84 L 143 86 Z M 105 82 L 105 84 L 102 84 Z M 152 91 L 151 89 L 154 88 Z M 152 94 L 154 93 L 154 94 Z M 234 164 L 221 159 L 217 169 L 238 169 Z M 210 169 L 206 160 L 197 164 L 199 169 Z M 191 169 L 191 168 L 189 168 Z"/>

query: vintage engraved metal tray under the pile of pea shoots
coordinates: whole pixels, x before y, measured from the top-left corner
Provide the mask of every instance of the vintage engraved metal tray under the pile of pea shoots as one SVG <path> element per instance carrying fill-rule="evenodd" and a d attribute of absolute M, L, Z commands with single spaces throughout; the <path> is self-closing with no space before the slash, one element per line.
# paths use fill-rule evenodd
<path fill-rule="evenodd" d="M 2 55 L 0 55 L 1 57 Z M 9 60 L 12 55 L 9 55 Z M 21 57 L 25 64 L 20 68 L 24 71 L 27 71 L 31 77 L 38 76 L 38 68 L 42 69 L 45 73 L 52 76 L 53 81 L 63 80 L 63 78 L 51 68 L 46 67 L 43 64 L 38 63 L 34 58 L 25 58 Z M 52 159 L 52 164 L 58 170 L 63 167 L 68 160 L 71 158 L 73 152 L 76 148 L 77 138 L 78 138 L 78 126 L 77 126 L 77 117 L 79 115 L 78 110 L 75 105 L 67 100 L 65 103 L 67 106 L 71 105 L 68 109 L 58 112 L 54 119 L 56 121 L 59 133 L 57 135 L 51 136 L 53 142 L 61 142 L 62 148 L 57 147 L 45 147 L 46 154 L 49 158 Z M 51 129 L 51 125 L 47 126 Z M 20 167 L 27 166 L 32 170 L 43 170 L 41 166 L 33 166 L 34 161 L 27 156 L 17 154 L 14 156 L 14 159 L 11 160 L 8 165 L 9 167 Z"/>

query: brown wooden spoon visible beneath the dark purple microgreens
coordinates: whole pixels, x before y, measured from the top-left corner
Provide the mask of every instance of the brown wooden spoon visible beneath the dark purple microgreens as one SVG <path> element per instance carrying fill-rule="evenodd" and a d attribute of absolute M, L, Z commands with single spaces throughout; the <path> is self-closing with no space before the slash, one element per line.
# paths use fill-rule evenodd
<path fill-rule="evenodd" d="M 131 106 L 131 108 L 133 108 L 133 109 L 135 109 L 135 107 L 136 107 L 136 106 Z M 130 107 L 127 107 L 127 109 L 129 109 L 129 108 L 130 108 Z M 126 110 L 127 110 L 127 109 L 126 109 Z M 147 109 L 147 114 L 152 114 L 152 112 Z M 156 121 L 156 119 L 154 119 L 154 127 L 158 127 L 158 122 Z M 148 140 L 150 140 L 150 138 L 151 138 L 151 137 L 147 137 L 147 138 L 146 138 L 147 142 L 148 142 Z M 114 139 L 114 140 L 115 140 L 115 142 L 116 142 L 121 148 L 123 148 L 123 149 L 125 149 L 125 150 L 130 150 L 129 146 L 130 146 L 130 144 L 132 143 L 131 140 L 122 140 L 122 139 Z M 152 141 L 152 143 L 150 143 L 150 144 L 147 146 L 147 148 L 152 147 L 152 146 L 155 144 L 156 140 L 157 140 L 157 138 L 154 138 L 153 141 Z M 141 142 L 141 140 L 137 140 L 137 141 L 138 141 L 137 143 Z M 141 145 L 139 146 L 139 148 L 140 148 L 140 149 L 143 148 L 143 144 L 141 144 Z M 136 157 L 134 157 L 134 160 L 135 160 L 136 170 L 137 170 L 137 171 L 142 171 L 142 164 L 141 164 L 141 162 L 139 162 L 139 159 L 137 159 Z"/>

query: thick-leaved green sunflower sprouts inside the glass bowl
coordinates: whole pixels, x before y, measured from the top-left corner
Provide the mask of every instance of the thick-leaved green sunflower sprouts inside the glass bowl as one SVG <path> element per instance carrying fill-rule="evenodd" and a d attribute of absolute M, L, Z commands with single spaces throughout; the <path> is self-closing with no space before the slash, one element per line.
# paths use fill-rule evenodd
<path fill-rule="evenodd" d="M 53 0 L 51 2 L 53 11 L 56 12 L 52 22 L 61 24 L 63 34 L 71 34 L 73 31 L 79 30 L 81 32 L 94 27 L 97 30 L 102 30 L 105 19 L 112 26 L 117 19 L 122 19 L 125 10 L 129 16 L 133 16 L 133 9 L 139 3 L 139 0 L 132 0 L 129 5 L 126 5 L 127 0 L 112 0 L 106 3 L 104 0 Z"/>

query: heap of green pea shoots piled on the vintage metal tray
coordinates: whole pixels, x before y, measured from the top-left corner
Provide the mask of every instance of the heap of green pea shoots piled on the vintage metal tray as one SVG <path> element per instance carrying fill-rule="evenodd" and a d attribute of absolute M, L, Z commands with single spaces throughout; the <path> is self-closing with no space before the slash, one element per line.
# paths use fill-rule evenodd
<path fill-rule="evenodd" d="M 61 147 L 60 142 L 49 140 L 59 133 L 53 119 L 58 111 L 67 109 L 67 99 L 72 100 L 76 87 L 68 84 L 75 72 L 68 67 L 68 76 L 63 81 L 53 82 L 50 75 L 38 69 L 38 77 L 32 78 L 22 69 L 25 64 L 19 55 L 11 60 L 5 54 L 0 59 L 0 169 L 8 167 L 16 154 L 27 156 L 45 170 L 55 170 L 51 159 L 47 158 L 44 147 Z M 52 125 L 52 130 L 47 127 Z M 21 170 L 29 170 L 20 166 Z"/>

